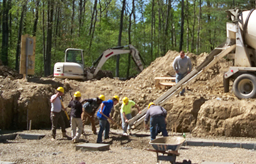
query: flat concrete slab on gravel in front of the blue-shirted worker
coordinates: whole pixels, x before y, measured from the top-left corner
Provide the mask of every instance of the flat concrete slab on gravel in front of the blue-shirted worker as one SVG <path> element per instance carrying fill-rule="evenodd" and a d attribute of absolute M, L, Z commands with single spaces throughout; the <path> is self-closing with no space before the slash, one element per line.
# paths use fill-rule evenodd
<path fill-rule="evenodd" d="M 104 151 L 109 150 L 110 145 L 109 144 L 103 144 L 103 143 L 82 143 L 80 145 L 76 145 L 76 150 L 91 150 L 91 151 Z"/>

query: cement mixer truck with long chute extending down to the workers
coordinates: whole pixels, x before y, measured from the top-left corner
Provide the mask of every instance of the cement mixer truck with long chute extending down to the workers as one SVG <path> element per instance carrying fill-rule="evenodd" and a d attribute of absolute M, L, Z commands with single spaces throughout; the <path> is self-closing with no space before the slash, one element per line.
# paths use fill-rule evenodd
<path fill-rule="evenodd" d="M 203 63 L 153 103 L 164 104 L 225 56 L 233 60 L 233 66 L 229 67 L 229 71 L 223 75 L 224 92 L 229 91 L 229 81 L 232 80 L 232 90 L 238 99 L 256 97 L 256 10 L 241 12 L 239 9 L 230 9 L 226 12 L 232 21 L 226 23 L 226 42 L 211 51 Z M 130 126 L 135 128 L 142 123 L 146 111 L 148 107 L 128 120 Z"/>

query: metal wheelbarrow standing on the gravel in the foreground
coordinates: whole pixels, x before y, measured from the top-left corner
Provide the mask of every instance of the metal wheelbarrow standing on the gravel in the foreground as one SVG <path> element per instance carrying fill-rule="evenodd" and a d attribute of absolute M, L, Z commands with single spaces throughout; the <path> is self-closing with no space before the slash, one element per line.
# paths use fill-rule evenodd
<path fill-rule="evenodd" d="M 155 150 L 145 150 L 156 152 L 157 162 L 159 162 L 159 160 L 167 160 L 172 164 L 175 164 L 176 156 L 180 155 L 178 149 L 180 149 L 184 142 L 184 137 L 161 137 L 149 142 Z M 162 153 L 162 155 L 158 155 L 158 153 Z M 165 154 L 167 154 L 167 156 L 165 156 Z"/>

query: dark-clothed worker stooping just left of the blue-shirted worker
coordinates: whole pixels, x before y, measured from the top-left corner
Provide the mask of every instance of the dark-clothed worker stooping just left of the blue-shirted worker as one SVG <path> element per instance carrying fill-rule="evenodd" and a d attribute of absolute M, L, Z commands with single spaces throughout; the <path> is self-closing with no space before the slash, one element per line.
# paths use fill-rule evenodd
<path fill-rule="evenodd" d="M 94 114 L 95 114 L 96 110 L 98 109 L 98 107 L 100 107 L 100 104 L 104 100 L 105 100 L 105 96 L 103 94 L 101 94 L 97 98 L 84 99 L 84 100 L 81 101 L 81 103 L 84 103 L 86 101 L 86 103 L 83 106 L 85 111 L 83 111 L 83 113 L 82 113 L 83 126 L 85 125 L 86 119 L 88 117 L 88 119 L 90 120 L 90 122 L 92 124 L 92 132 L 94 133 L 94 135 L 97 135 L 97 130 L 96 130 L 96 127 L 95 127 Z"/>

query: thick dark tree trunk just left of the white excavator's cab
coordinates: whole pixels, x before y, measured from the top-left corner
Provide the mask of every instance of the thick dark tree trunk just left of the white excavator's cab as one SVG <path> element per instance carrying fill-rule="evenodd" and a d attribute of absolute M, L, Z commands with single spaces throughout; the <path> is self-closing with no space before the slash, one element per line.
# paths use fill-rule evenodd
<path fill-rule="evenodd" d="M 46 41 L 46 69 L 44 75 L 49 76 L 51 74 L 51 58 L 52 58 L 52 27 L 53 27 L 53 0 L 48 0 L 47 11 L 47 41 Z"/>

